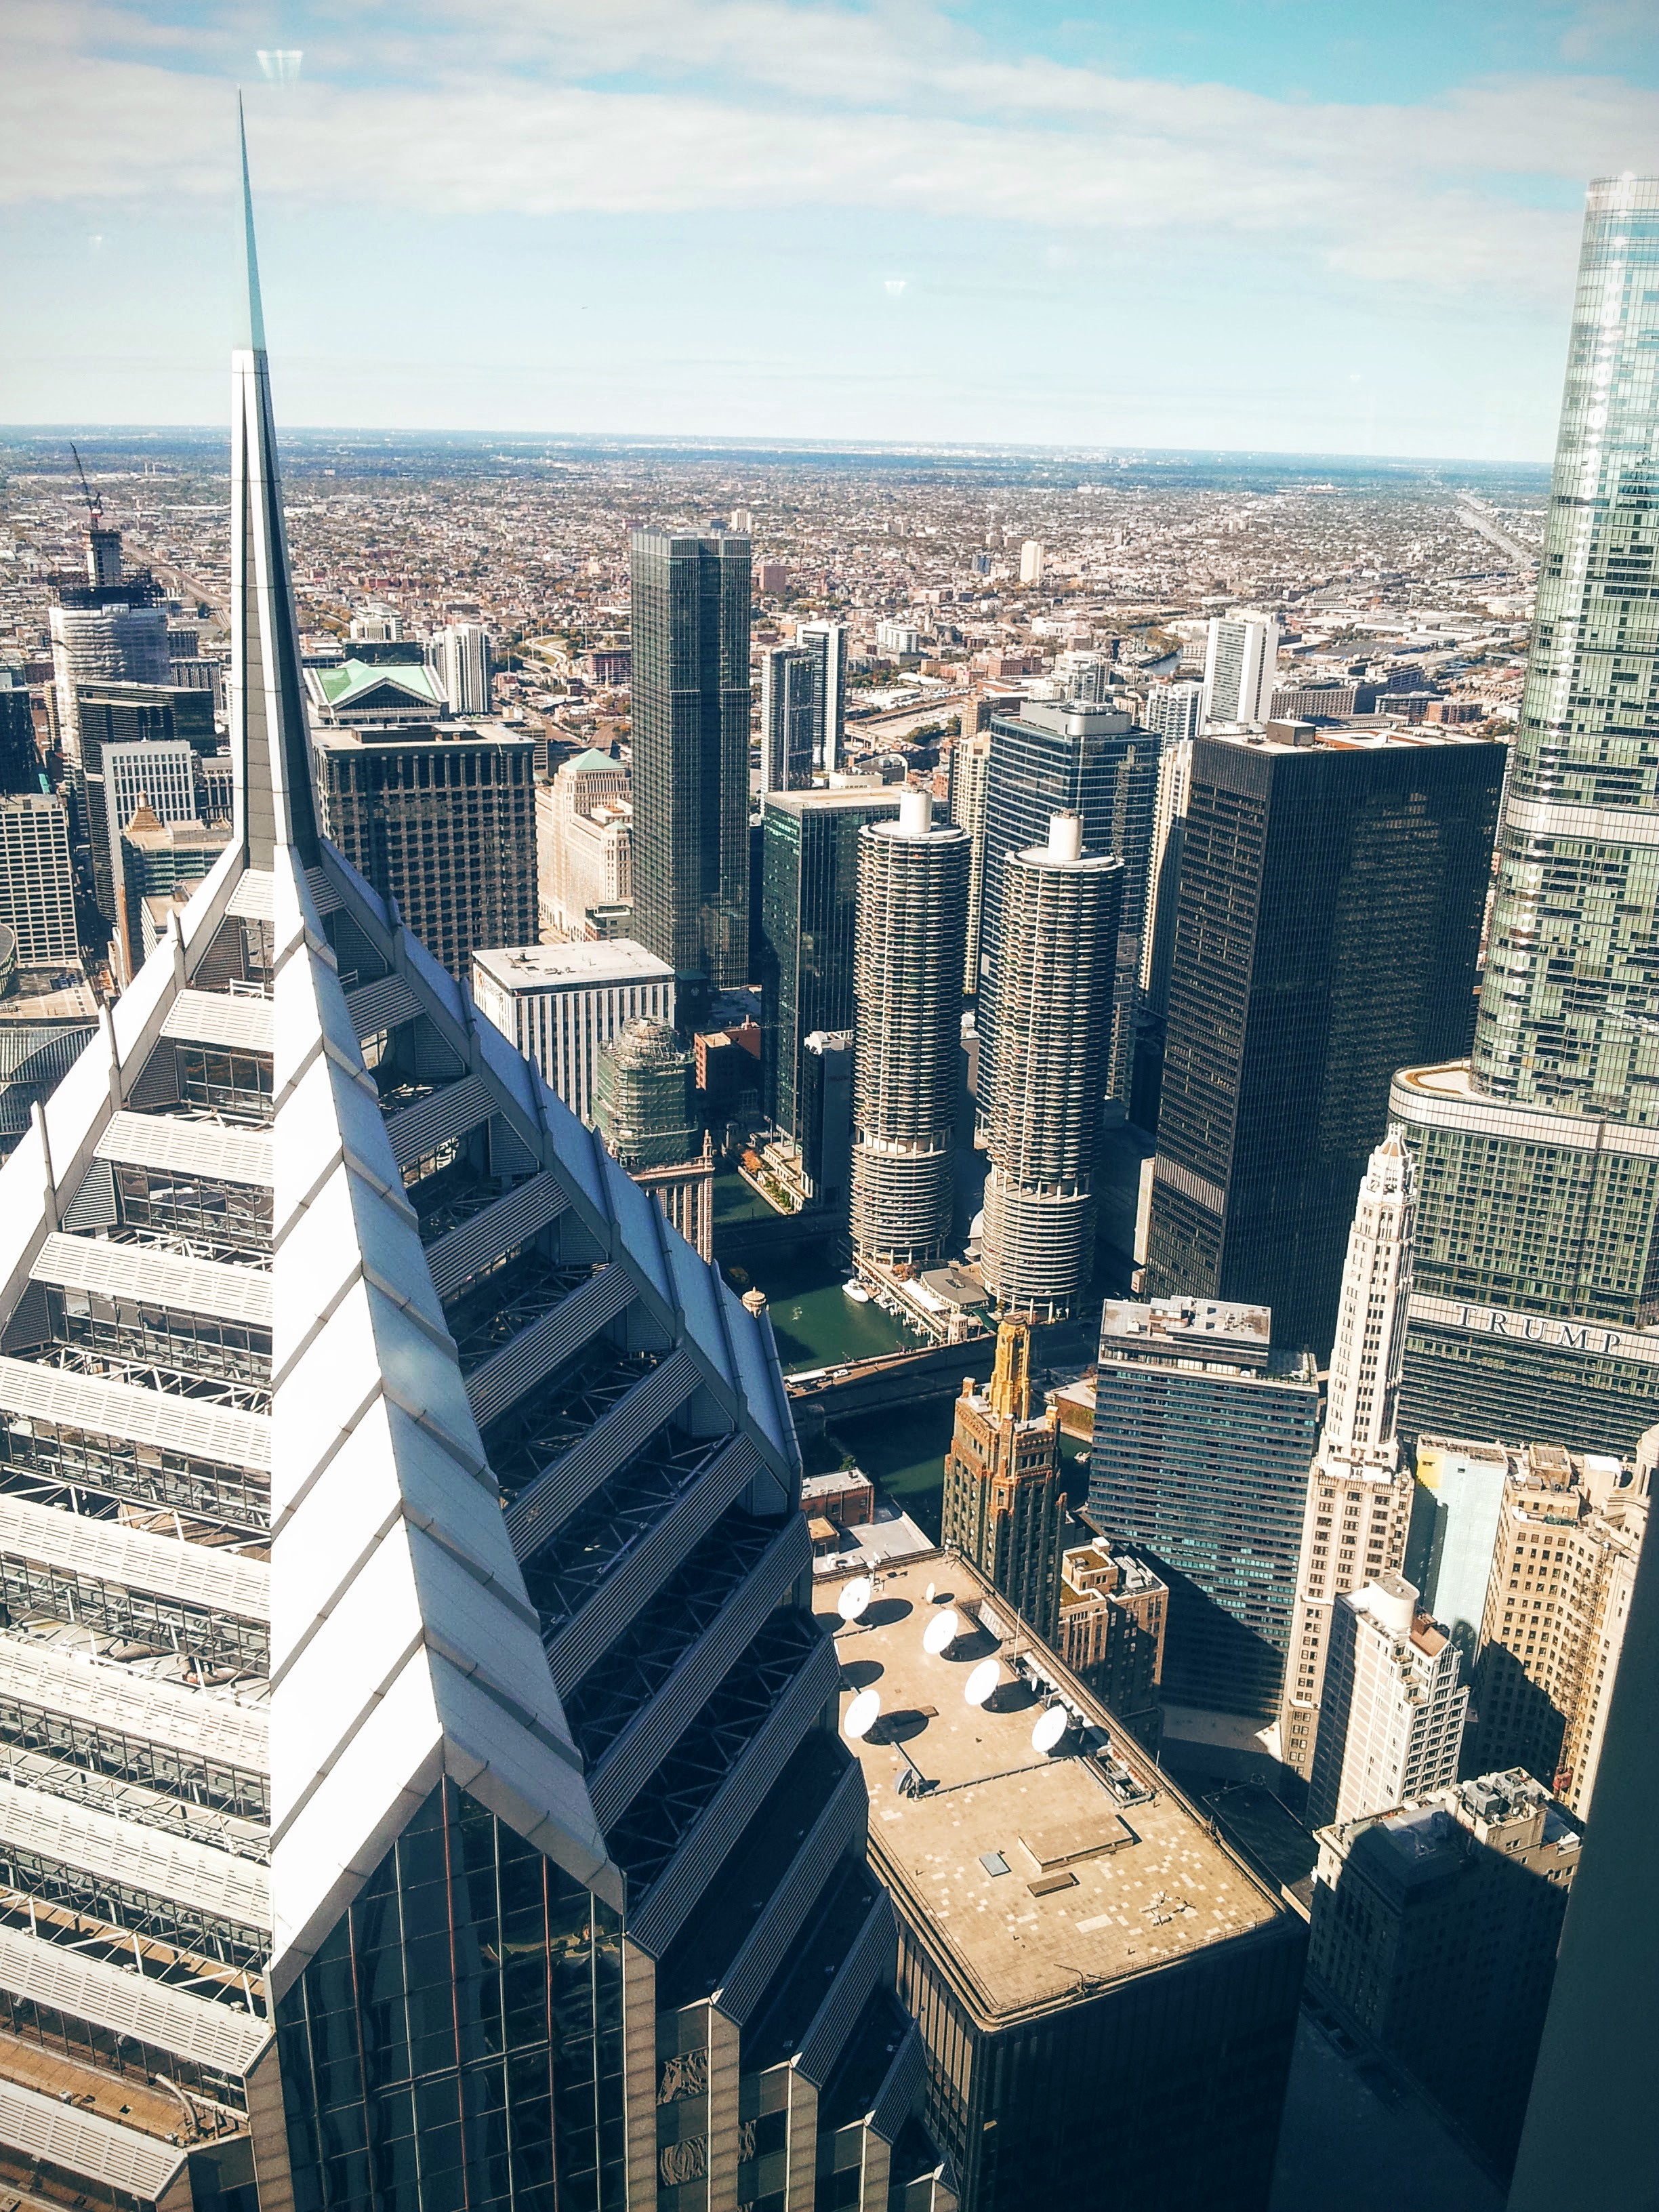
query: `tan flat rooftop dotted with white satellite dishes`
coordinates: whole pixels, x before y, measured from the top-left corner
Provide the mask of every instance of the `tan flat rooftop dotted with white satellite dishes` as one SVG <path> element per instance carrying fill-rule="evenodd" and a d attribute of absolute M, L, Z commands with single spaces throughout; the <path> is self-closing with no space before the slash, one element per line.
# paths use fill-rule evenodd
<path fill-rule="evenodd" d="M 838 1588 L 814 1595 L 830 1619 Z M 984 1626 L 964 1615 L 980 1601 Z M 836 1635 L 843 1719 L 858 1690 L 874 1688 L 883 1705 L 852 1745 L 869 1787 L 872 1856 L 982 2024 L 1071 2004 L 1082 1989 L 1276 1922 L 1283 1907 L 1265 1885 L 1060 1659 L 1024 1630 L 1002 1639 L 998 1604 L 964 1562 L 929 1553 L 887 1568 L 863 1621 Z M 922 1637 L 947 1606 L 964 1635 L 933 1657 Z M 1046 1692 L 1015 1657 L 1073 1710 L 1057 1752 L 1033 1750 Z M 1000 1688 L 975 1708 L 962 1688 L 984 1659 L 998 1659 Z M 929 1787 L 900 1794 L 905 1774 Z"/>

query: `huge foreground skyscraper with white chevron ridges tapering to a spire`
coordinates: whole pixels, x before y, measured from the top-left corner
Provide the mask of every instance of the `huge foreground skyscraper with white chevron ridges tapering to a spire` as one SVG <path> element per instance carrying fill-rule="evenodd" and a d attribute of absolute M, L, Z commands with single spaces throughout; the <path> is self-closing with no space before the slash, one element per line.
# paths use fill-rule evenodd
<path fill-rule="evenodd" d="M 319 836 L 257 303 L 230 482 L 237 832 L 0 1170 L 0 2170 L 938 2212 L 770 1327 Z"/>

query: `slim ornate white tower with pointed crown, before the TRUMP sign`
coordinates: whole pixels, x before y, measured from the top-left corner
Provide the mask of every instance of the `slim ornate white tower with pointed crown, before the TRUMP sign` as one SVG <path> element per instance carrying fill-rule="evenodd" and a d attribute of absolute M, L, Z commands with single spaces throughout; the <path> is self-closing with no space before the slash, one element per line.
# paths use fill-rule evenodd
<path fill-rule="evenodd" d="M 1411 1526 L 1411 1469 L 1396 1438 L 1405 1312 L 1411 1298 L 1416 1170 L 1398 1130 L 1371 1152 L 1347 1232 L 1325 1427 L 1307 1480 L 1296 1559 L 1296 1626 L 1279 1717 L 1281 1756 L 1312 1772 L 1332 1606 L 1398 1571 Z"/>

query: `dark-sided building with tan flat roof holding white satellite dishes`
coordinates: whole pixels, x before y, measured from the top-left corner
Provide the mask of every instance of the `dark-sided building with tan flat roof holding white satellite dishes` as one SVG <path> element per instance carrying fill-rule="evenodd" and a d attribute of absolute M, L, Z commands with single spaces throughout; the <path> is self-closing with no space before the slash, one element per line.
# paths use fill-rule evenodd
<path fill-rule="evenodd" d="M 834 1584 L 818 1604 L 834 1619 Z M 843 1717 L 858 1683 L 880 1697 L 869 1851 L 962 2201 L 1263 2212 L 1303 1922 L 964 1559 L 887 1571 L 836 1626 Z M 1000 1688 L 969 1705 L 987 1661 Z M 1066 1734 L 1040 1752 L 1051 1705 Z"/>

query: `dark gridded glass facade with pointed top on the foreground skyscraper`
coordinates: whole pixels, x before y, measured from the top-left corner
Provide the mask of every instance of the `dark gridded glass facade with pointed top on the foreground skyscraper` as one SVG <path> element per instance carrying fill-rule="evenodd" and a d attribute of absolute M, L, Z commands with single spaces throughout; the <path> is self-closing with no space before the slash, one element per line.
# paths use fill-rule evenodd
<path fill-rule="evenodd" d="M 449 1781 L 276 2035 L 296 2212 L 624 2203 L 617 1918 Z"/>

